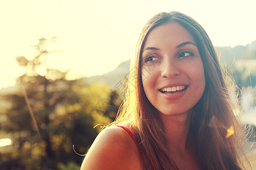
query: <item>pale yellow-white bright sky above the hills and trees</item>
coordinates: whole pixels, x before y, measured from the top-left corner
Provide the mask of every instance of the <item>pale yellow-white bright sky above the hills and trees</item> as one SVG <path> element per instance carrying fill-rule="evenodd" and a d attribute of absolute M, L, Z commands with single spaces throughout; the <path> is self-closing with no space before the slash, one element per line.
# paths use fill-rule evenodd
<path fill-rule="evenodd" d="M 256 1 L 190 0 L 2 0 L 0 88 L 24 74 L 15 57 L 31 58 L 42 37 L 58 37 L 63 53 L 47 57 L 48 68 L 79 76 L 101 75 L 131 59 L 143 25 L 162 11 L 180 11 L 199 22 L 215 46 L 256 40 Z"/>

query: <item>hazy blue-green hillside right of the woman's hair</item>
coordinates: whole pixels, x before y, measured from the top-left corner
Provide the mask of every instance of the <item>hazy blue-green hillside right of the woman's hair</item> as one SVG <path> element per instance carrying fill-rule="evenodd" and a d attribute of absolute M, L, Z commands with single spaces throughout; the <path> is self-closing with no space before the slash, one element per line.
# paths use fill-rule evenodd
<path fill-rule="evenodd" d="M 222 66 L 233 76 L 240 89 L 236 90 L 239 97 L 243 87 L 256 87 L 256 41 L 246 46 L 219 47 L 217 50 L 220 52 Z M 253 96 L 256 103 L 255 90 Z"/>

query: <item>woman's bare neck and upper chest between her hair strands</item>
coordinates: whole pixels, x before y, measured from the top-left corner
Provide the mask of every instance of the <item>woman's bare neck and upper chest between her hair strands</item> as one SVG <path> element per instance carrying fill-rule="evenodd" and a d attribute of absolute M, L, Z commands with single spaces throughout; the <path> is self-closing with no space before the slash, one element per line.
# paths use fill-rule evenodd
<path fill-rule="evenodd" d="M 174 159 L 180 169 L 201 169 L 196 154 L 196 143 L 191 130 L 189 130 L 192 112 L 179 116 L 162 114 L 161 118 L 166 132 L 170 157 Z"/>

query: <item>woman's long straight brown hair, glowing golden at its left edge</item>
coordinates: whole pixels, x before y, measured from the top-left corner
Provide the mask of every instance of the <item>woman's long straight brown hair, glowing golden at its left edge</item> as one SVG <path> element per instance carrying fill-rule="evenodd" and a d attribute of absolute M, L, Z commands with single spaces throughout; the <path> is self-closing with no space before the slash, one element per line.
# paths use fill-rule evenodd
<path fill-rule="evenodd" d="M 141 56 L 144 42 L 152 29 L 165 23 L 179 23 L 196 40 L 205 71 L 205 92 L 193 108 L 189 133 L 196 142 L 197 154 L 203 169 L 241 169 L 243 153 L 240 145 L 242 131 L 236 116 L 216 50 L 199 23 L 180 12 L 160 12 L 143 27 L 134 59 L 130 64 L 125 99 L 114 124 L 129 121 L 129 128 L 139 141 L 145 169 L 178 169 L 168 156 L 166 134 L 158 112 L 144 94 L 141 75 Z M 234 134 L 226 137 L 227 129 Z"/>

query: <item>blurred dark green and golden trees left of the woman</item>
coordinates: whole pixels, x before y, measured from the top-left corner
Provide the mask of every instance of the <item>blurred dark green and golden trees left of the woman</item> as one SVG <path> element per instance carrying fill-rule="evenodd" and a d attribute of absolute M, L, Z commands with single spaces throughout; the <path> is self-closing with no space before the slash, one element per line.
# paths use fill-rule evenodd
<path fill-rule="evenodd" d="M 1 112 L 0 137 L 14 144 L 0 150 L 0 169 L 79 169 L 83 157 L 75 151 L 85 154 L 98 134 L 93 127 L 112 121 L 95 110 L 109 87 L 67 80 L 67 71 L 45 67 L 47 54 L 53 53 L 45 45 L 52 41 L 56 38 L 40 39 L 31 60 L 16 58 L 26 73 L 16 79 L 20 90 L 1 97 L 11 107 Z"/>

